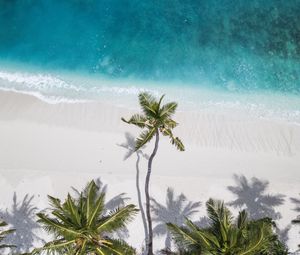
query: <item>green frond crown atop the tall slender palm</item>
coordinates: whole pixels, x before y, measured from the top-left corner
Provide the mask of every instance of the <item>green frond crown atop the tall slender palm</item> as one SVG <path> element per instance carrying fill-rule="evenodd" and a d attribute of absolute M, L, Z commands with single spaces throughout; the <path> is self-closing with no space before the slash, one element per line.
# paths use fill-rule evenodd
<path fill-rule="evenodd" d="M 136 150 L 142 148 L 146 143 L 160 132 L 164 136 L 170 138 L 170 141 L 180 151 L 184 151 L 184 145 L 178 137 L 173 135 L 174 129 L 178 123 L 171 117 L 177 109 L 176 102 L 170 102 L 162 105 L 164 95 L 157 100 L 148 92 L 139 94 L 139 103 L 142 108 L 143 114 L 134 114 L 129 120 L 125 120 L 128 124 L 133 124 L 139 128 L 144 129 L 136 140 Z"/>

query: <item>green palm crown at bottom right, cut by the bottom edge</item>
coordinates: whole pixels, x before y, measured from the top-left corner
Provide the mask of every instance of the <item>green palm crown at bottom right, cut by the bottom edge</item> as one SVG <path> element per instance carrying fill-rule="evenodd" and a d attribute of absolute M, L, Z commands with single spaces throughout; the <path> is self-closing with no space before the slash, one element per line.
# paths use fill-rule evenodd
<path fill-rule="evenodd" d="M 200 228 L 188 219 L 184 227 L 167 224 L 176 244 L 187 254 L 276 254 L 268 253 L 274 239 L 273 223 L 269 218 L 251 221 L 243 210 L 235 222 L 223 202 L 210 199 L 206 206 L 210 219 L 208 228 Z"/>

